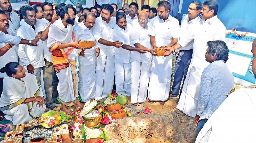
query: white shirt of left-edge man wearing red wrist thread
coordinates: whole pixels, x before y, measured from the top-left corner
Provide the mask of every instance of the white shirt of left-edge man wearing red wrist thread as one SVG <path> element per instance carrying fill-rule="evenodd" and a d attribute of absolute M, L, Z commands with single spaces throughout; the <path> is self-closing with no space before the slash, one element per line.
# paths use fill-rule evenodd
<path fill-rule="evenodd" d="M 14 36 L 15 33 L 11 29 L 7 29 L 9 35 Z M 5 34 L 4 32 L 0 31 L 0 35 Z M 7 34 L 8 35 L 8 34 Z M 15 36 L 16 37 L 16 36 Z M 4 47 L 8 43 L 0 43 L 0 48 Z M 9 62 L 18 62 L 18 55 L 17 55 L 17 47 L 13 46 L 8 50 L 3 56 L 0 56 L 0 69 L 4 67 Z M 8 77 L 6 72 L 0 72 L 0 78 Z"/>

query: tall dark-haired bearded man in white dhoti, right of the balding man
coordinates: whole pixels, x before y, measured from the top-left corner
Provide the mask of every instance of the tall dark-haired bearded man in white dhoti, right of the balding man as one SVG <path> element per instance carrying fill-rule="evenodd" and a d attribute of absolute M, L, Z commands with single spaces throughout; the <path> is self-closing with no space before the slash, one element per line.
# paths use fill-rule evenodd
<path fill-rule="evenodd" d="M 148 27 L 150 43 L 154 49 L 160 46 L 171 47 L 180 37 L 179 21 L 169 15 L 169 2 L 160 1 L 157 5 L 158 16 L 151 19 Z M 160 105 L 164 105 L 169 99 L 171 74 L 172 56 L 153 56 L 148 87 L 148 99 L 151 104 L 160 101 Z"/>

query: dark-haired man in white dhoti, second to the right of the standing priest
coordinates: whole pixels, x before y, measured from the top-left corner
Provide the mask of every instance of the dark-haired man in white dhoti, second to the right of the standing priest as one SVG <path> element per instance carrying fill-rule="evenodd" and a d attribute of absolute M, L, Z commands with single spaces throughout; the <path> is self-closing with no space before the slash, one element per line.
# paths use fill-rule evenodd
<path fill-rule="evenodd" d="M 113 7 L 103 4 L 101 16 L 96 18 L 92 28 L 94 38 L 100 47 L 100 56 L 96 66 L 96 93 L 95 100 L 105 98 L 112 92 L 114 84 L 114 47 L 121 47 L 119 41 L 113 42 L 113 29 L 116 18 L 113 17 Z"/>

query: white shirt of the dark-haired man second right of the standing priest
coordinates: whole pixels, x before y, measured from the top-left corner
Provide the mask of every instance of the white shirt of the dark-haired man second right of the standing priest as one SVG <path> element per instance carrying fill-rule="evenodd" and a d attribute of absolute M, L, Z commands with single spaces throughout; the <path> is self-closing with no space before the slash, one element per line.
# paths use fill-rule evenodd
<path fill-rule="evenodd" d="M 100 47 L 100 54 L 103 56 L 114 56 L 114 47 L 100 44 L 98 41 L 100 38 L 113 42 L 113 29 L 116 26 L 116 18 L 111 17 L 109 23 L 102 20 L 101 16 L 96 18 L 95 25 L 93 26 L 94 38 L 97 41 L 97 45 Z"/>

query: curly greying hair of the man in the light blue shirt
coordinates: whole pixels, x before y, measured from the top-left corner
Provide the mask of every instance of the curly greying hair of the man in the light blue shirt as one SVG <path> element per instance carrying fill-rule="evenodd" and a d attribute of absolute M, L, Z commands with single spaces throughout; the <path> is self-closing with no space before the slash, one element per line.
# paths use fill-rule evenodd
<path fill-rule="evenodd" d="M 210 54 L 216 53 L 216 60 L 223 60 L 224 63 L 228 60 L 228 46 L 224 41 L 216 40 L 216 41 L 208 41 L 207 45 L 209 47 Z"/>

